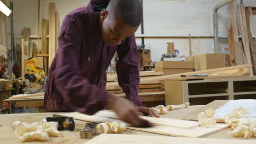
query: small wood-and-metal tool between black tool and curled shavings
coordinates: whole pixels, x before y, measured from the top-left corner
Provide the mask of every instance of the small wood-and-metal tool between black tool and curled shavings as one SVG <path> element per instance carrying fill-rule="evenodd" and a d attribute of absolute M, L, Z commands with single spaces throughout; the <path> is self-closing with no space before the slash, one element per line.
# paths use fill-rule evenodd
<path fill-rule="evenodd" d="M 96 126 L 98 123 L 86 123 L 83 130 L 80 131 L 80 139 L 92 139 L 97 133 Z"/>

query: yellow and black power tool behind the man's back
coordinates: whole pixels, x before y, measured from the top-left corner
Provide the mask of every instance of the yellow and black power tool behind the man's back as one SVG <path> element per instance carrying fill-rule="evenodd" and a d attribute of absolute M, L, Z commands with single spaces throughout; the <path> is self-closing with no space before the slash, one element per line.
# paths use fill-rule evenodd
<path fill-rule="evenodd" d="M 25 74 L 25 78 L 30 80 L 30 82 L 38 83 L 39 85 L 44 85 L 45 73 L 43 68 L 37 67 L 37 61 L 35 58 L 28 58 L 25 62 L 26 70 L 28 74 Z"/>

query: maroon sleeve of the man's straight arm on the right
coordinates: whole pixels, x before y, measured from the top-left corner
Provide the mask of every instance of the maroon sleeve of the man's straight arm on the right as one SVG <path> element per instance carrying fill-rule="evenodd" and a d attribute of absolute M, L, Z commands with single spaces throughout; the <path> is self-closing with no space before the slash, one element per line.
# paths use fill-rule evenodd
<path fill-rule="evenodd" d="M 135 35 L 125 39 L 118 46 L 118 61 L 116 65 L 118 83 L 126 94 L 126 98 L 133 104 L 141 106 L 139 92 L 139 57 L 135 43 Z"/>

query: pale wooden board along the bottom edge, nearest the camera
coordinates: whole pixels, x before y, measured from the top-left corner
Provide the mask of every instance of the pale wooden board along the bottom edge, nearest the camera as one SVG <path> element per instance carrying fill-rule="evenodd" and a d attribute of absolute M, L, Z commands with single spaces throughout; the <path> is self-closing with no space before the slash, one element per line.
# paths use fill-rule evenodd
<path fill-rule="evenodd" d="M 231 139 L 207 139 L 207 138 L 190 138 L 190 137 L 171 137 L 171 136 L 152 136 L 152 135 L 115 135 L 101 134 L 84 144 L 127 144 L 127 143 L 161 143 L 161 144 L 216 144 L 216 143 L 232 143 L 232 144 L 254 144 L 255 140 L 231 140 Z"/>

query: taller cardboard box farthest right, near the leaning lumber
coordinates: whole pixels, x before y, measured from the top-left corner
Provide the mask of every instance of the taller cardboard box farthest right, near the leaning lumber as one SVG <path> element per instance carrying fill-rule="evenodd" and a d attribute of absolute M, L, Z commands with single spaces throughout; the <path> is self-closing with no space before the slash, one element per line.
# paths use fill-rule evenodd
<path fill-rule="evenodd" d="M 225 57 L 222 53 L 194 56 L 194 68 L 196 71 L 224 68 L 226 67 Z"/>

